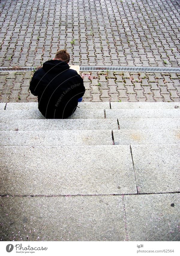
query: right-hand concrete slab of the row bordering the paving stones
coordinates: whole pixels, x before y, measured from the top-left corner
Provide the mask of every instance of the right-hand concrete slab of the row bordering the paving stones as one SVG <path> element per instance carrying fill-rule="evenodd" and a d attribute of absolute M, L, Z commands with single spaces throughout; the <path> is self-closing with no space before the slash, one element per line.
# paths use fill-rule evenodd
<path fill-rule="evenodd" d="M 174 109 L 180 102 L 111 102 L 111 109 Z"/>

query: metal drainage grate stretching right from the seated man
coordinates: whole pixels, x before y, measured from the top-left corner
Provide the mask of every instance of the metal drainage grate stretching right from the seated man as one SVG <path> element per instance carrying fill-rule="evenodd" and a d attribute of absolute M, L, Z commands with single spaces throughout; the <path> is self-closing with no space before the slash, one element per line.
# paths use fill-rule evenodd
<path fill-rule="evenodd" d="M 123 71 L 123 72 L 131 71 L 131 72 L 180 73 L 180 68 L 80 66 L 79 71 Z"/>

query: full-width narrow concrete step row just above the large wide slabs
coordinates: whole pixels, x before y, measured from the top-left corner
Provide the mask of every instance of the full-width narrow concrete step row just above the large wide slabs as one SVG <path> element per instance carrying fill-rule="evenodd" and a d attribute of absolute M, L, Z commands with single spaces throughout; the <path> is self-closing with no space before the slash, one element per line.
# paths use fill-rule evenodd
<path fill-rule="evenodd" d="M 112 145 L 112 130 L 0 131 L 0 146 Z M 180 129 L 113 130 L 115 145 L 180 144 Z"/>

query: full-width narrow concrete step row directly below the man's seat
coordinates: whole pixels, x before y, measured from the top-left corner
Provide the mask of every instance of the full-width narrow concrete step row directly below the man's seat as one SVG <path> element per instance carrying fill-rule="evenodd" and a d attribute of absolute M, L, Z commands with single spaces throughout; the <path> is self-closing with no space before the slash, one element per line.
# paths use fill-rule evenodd
<path fill-rule="evenodd" d="M 178 129 L 180 118 L 120 118 L 119 129 Z M 0 131 L 117 130 L 117 119 L 0 119 Z"/>

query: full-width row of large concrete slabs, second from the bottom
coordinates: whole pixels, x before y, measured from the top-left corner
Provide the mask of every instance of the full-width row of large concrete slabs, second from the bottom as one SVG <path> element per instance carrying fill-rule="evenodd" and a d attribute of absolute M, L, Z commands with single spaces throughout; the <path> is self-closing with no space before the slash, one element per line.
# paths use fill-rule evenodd
<path fill-rule="evenodd" d="M 180 192 L 179 152 L 179 144 L 0 147 L 0 193 Z"/>

